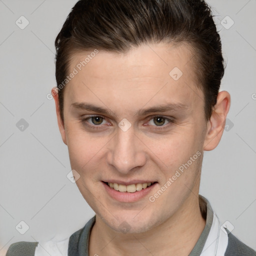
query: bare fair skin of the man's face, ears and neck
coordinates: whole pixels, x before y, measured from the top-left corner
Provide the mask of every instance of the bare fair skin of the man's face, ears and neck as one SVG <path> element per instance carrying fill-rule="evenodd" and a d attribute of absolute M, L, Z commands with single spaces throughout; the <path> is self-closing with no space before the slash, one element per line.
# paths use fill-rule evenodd
<path fill-rule="evenodd" d="M 90 52 L 77 52 L 70 72 Z M 76 184 L 96 213 L 89 255 L 188 255 L 204 226 L 198 191 L 203 150 L 214 149 L 223 133 L 230 95 L 221 91 L 208 121 L 203 92 L 196 85 L 189 45 L 141 45 L 125 54 L 99 51 L 65 86 L 64 122 L 58 95 L 54 95 L 59 130 L 68 147 L 70 164 L 80 178 Z M 178 67 L 182 76 L 169 72 Z M 109 114 L 77 109 L 74 102 L 108 108 Z M 181 110 L 136 115 L 139 109 L 181 103 Z M 100 115 L 102 123 L 83 117 Z M 163 119 L 157 126 L 154 116 Z M 118 123 L 126 118 L 131 127 Z M 94 120 L 94 119 L 93 119 Z M 101 120 L 101 119 L 100 119 Z M 95 120 L 94 120 L 95 123 Z M 88 124 L 99 127 L 93 129 Z M 201 155 L 154 201 L 119 202 L 106 192 L 101 180 L 148 179 L 157 192 L 180 165 L 197 151 Z M 129 225 L 122 231 L 122 223 Z M 150 254 L 151 253 L 151 254 Z"/>

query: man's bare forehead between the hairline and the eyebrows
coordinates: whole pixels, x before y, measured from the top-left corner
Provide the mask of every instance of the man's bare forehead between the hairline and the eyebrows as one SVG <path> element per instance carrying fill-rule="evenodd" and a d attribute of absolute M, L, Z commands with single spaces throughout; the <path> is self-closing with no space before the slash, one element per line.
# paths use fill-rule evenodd
<path fill-rule="evenodd" d="M 126 53 L 92 52 L 72 55 L 69 73 L 77 73 L 66 86 L 64 101 L 97 101 L 109 107 L 121 102 L 123 108 L 136 111 L 135 102 L 192 106 L 203 98 L 189 45 L 143 44 Z"/>

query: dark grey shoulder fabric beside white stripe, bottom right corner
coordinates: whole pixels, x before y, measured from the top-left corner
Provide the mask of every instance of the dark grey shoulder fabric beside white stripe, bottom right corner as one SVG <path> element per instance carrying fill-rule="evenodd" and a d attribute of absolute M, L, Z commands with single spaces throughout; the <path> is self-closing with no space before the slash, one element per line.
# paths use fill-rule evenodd
<path fill-rule="evenodd" d="M 256 256 L 256 251 L 228 233 L 228 243 L 224 256 Z"/>

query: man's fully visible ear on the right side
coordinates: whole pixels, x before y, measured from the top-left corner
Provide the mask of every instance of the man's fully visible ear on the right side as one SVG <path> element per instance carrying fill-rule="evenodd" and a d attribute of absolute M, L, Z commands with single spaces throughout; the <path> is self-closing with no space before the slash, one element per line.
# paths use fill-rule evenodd
<path fill-rule="evenodd" d="M 203 150 L 214 149 L 223 134 L 226 115 L 230 107 L 230 94 L 227 91 L 220 91 L 217 95 L 217 102 L 207 122 L 207 131 L 203 143 Z"/>

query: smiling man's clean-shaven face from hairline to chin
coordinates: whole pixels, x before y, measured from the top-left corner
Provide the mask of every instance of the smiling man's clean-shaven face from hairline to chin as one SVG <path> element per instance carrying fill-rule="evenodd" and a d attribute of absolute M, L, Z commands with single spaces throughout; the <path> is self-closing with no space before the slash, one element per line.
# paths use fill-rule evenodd
<path fill-rule="evenodd" d="M 64 91 L 60 131 L 76 184 L 117 231 L 150 230 L 198 194 L 207 123 L 192 53 L 188 45 L 149 46 L 99 51 L 81 70 L 90 52 L 74 54 L 69 71 L 78 72 Z"/>

